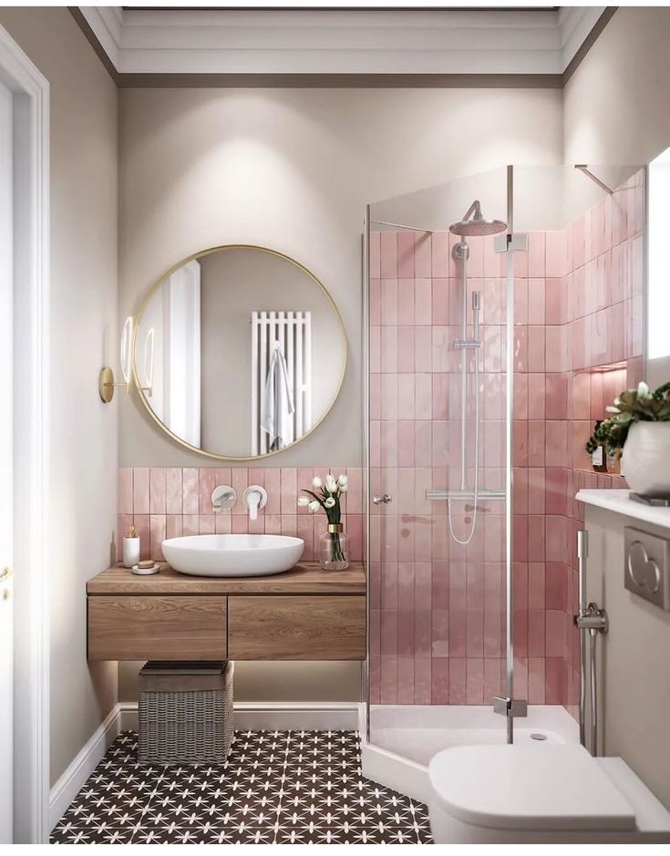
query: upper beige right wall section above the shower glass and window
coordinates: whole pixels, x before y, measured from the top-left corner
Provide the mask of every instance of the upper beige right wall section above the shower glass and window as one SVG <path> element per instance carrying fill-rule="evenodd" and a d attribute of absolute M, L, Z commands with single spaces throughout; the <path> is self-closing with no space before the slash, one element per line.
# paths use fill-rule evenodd
<path fill-rule="evenodd" d="M 644 164 L 670 146 L 670 8 L 622 6 L 563 90 L 566 163 Z"/>

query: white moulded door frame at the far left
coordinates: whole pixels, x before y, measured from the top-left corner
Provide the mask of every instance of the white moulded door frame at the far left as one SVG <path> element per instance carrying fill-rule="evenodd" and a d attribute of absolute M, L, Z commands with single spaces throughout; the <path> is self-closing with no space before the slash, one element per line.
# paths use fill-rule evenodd
<path fill-rule="evenodd" d="M 14 838 L 49 836 L 49 84 L 0 26 L 15 93 Z M 18 428 L 18 429 L 17 429 Z M 21 680 L 16 680 L 20 675 Z"/>

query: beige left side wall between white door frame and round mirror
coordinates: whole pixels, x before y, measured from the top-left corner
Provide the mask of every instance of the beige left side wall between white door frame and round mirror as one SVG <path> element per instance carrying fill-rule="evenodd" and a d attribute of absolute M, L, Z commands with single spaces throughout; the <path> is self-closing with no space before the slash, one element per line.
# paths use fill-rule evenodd
<path fill-rule="evenodd" d="M 118 93 L 66 8 L 0 8 L 46 76 L 51 109 L 51 780 L 114 705 L 115 664 L 89 668 L 86 594 L 116 523 Z"/>

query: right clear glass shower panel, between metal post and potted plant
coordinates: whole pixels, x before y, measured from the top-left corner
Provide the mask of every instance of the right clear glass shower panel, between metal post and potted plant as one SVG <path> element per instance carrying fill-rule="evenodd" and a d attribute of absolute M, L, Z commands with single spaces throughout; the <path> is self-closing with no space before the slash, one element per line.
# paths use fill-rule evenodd
<path fill-rule="evenodd" d="M 514 367 L 514 689 L 575 718 L 574 496 L 624 486 L 593 472 L 584 444 L 613 397 L 644 376 L 644 170 L 585 169 L 514 169 L 515 232 L 528 242 L 514 253 L 526 352 Z"/>

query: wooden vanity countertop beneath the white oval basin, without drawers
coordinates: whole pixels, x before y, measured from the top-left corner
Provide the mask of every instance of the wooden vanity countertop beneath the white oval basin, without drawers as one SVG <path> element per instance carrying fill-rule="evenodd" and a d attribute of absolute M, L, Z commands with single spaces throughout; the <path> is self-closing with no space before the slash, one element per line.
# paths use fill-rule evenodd
<path fill-rule="evenodd" d="M 173 571 L 141 576 L 114 565 L 89 580 L 87 594 L 365 594 L 363 562 L 346 571 L 322 571 L 318 562 L 299 562 L 292 571 L 265 577 L 199 577 Z"/>

